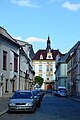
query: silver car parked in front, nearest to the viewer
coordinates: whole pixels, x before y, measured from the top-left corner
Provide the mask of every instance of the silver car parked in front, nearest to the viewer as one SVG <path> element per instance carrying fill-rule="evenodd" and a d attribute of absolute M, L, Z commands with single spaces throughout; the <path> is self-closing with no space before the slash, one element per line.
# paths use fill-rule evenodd
<path fill-rule="evenodd" d="M 36 100 L 32 91 L 16 91 L 8 103 L 8 111 L 32 111 L 36 110 Z"/>

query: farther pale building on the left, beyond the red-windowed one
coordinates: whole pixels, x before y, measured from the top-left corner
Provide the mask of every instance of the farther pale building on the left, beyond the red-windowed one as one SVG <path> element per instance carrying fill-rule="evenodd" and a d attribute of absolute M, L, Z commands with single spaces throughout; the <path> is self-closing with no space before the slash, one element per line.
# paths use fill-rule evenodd
<path fill-rule="evenodd" d="M 32 66 L 34 50 L 32 45 L 27 42 L 20 41 L 20 40 L 17 40 L 17 42 L 22 47 L 22 50 L 20 53 L 20 89 L 22 90 L 32 89 L 32 84 L 34 81 L 34 71 Z M 24 79 L 24 82 L 23 82 L 23 79 Z"/>

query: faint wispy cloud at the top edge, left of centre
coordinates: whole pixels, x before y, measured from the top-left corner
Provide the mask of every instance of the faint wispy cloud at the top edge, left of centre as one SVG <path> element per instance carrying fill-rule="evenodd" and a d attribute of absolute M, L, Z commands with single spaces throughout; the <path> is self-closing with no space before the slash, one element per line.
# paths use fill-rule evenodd
<path fill-rule="evenodd" d="M 21 7 L 32 7 L 32 8 L 38 7 L 38 5 L 32 3 L 31 0 L 11 0 L 11 3 L 19 5 Z"/>

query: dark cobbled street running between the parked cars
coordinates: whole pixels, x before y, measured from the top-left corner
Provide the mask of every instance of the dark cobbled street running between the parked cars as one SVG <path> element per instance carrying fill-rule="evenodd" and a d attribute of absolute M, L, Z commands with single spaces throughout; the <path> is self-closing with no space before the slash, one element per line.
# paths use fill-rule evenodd
<path fill-rule="evenodd" d="M 48 94 L 35 113 L 6 113 L 0 120 L 80 120 L 80 102 Z"/>

